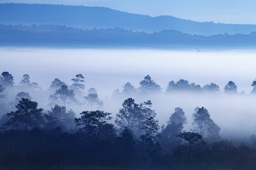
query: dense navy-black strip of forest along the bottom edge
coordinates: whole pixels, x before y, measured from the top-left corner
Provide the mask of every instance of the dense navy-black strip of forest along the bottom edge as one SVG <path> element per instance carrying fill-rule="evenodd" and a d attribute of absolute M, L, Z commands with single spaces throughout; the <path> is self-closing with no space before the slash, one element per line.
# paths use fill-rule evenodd
<path fill-rule="evenodd" d="M 152 138 L 119 135 L 88 137 L 83 133 L 6 130 L 1 135 L 1 169 L 255 169 L 256 150 L 243 144 L 183 143 L 173 151 Z M 190 154 L 189 154 L 190 153 Z M 98 167 L 98 168 L 97 168 Z"/>

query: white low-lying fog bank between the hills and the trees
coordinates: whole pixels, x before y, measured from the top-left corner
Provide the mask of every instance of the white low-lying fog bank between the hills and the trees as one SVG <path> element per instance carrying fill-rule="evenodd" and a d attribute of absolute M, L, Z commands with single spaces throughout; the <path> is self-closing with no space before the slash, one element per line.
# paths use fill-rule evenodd
<path fill-rule="evenodd" d="M 251 83 L 256 78 L 255 51 L 197 52 L 151 49 L 0 49 L 1 73 L 8 71 L 14 76 L 18 86 L 24 74 L 30 75 L 30 81 L 36 82 L 43 92 L 30 94 L 44 110 L 49 103 L 49 85 L 58 78 L 71 85 L 76 74 L 82 74 L 85 80 L 85 93 L 93 87 L 98 97 L 104 101 L 104 111 L 112 117 L 122 108 L 126 97 L 133 97 L 136 103 L 151 100 L 152 109 L 157 113 L 159 125 L 166 124 L 176 107 L 182 108 L 188 124 L 184 130 L 193 129 L 192 114 L 196 107 L 208 110 L 210 118 L 220 126 L 222 138 L 246 142 L 256 133 L 256 96 L 250 94 Z M 113 101 L 113 92 L 122 92 L 125 83 L 130 82 L 139 88 L 139 82 L 146 75 L 160 85 L 162 94 L 148 96 L 122 96 Z M 172 92 L 165 94 L 168 83 L 180 79 L 189 83 L 216 83 L 220 92 Z M 236 95 L 224 93 L 224 87 L 232 80 L 237 85 Z M 241 94 L 241 92 L 245 94 Z M 48 94 L 47 94 L 48 93 Z M 43 95 L 42 95 L 43 94 Z M 12 102 L 16 94 L 7 98 Z M 72 108 L 72 107 L 71 107 Z M 72 108 L 76 115 L 84 107 Z M 1 113 L 4 114 L 4 113 Z M 2 116 L 2 115 L 1 115 Z M 114 118 L 113 118 L 114 120 Z M 114 124 L 114 123 L 113 123 Z"/>

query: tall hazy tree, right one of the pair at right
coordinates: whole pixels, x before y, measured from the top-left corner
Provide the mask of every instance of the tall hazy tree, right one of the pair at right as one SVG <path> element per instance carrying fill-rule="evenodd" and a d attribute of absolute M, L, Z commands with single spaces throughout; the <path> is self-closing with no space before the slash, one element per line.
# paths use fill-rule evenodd
<path fill-rule="evenodd" d="M 210 114 L 204 107 L 197 107 L 195 109 L 192 125 L 194 126 L 195 131 L 197 131 L 203 138 L 207 138 L 212 142 L 220 139 L 220 127 L 213 122 L 210 118 Z"/>

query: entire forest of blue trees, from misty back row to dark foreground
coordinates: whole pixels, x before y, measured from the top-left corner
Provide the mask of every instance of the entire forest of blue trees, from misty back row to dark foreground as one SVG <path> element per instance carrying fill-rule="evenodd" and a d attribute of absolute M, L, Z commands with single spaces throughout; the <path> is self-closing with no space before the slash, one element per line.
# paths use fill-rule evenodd
<path fill-rule="evenodd" d="M 105 99 L 93 87 L 85 92 L 82 74 L 71 80 L 69 86 L 55 78 L 44 90 L 28 74 L 15 84 L 2 72 L 1 169 L 255 169 L 256 135 L 248 136 L 251 145 L 229 141 L 205 107 L 191 111 L 192 122 L 175 107 L 160 125 L 152 99 L 254 96 L 256 80 L 250 94 L 237 92 L 231 80 L 223 91 L 184 79 L 171 80 L 163 91 L 146 75 L 138 88 L 127 82 Z M 184 129 L 187 124 L 191 129 Z"/>

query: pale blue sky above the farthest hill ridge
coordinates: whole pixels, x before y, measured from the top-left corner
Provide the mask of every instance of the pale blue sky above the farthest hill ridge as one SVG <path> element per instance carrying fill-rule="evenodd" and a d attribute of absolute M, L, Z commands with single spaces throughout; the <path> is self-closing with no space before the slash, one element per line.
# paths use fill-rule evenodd
<path fill-rule="evenodd" d="M 171 15 L 197 22 L 256 24 L 255 0 L 2 0 L 1 3 L 102 6 L 134 14 Z"/>

